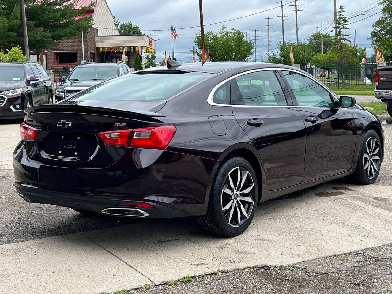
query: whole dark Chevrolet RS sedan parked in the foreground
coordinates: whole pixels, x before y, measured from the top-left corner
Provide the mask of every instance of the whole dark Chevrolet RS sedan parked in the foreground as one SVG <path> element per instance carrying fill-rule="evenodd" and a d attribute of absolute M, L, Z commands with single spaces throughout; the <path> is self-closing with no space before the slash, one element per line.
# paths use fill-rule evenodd
<path fill-rule="evenodd" d="M 199 216 L 236 236 L 262 201 L 347 176 L 377 179 L 376 115 L 281 64 L 169 60 L 33 106 L 14 156 L 17 193 L 81 213 Z"/>

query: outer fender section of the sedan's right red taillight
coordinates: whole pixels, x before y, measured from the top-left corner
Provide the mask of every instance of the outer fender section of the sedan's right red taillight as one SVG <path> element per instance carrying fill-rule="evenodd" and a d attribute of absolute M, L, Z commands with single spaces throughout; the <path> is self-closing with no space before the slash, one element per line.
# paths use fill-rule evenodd
<path fill-rule="evenodd" d="M 175 127 L 134 129 L 130 147 L 164 150 L 169 145 L 176 131 Z"/>

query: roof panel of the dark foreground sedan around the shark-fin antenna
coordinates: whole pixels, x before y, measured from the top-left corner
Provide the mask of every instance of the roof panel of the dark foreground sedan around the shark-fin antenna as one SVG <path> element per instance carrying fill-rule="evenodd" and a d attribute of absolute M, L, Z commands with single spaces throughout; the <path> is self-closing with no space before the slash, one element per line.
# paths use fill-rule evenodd
<path fill-rule="evenodd" d="M 226 71 L 228 69 L 258 69 L 265 67 L 281 67 L 281 68 L 292 68 L 292 66 L 284 65 L 284 64 L 270 64 L 270 63 L 262 63 L 262 62 L 239 62 L 239 61 L 225 61 L 225 62 L 206 62 L 201 65 L 201 62 L 196 63 L 186 63 L 181 64 L 179 67 L 176 67 L 176 70 L 182 71 L 195 71 L 195 72 L 203 72 L 203 73 L 221 73 L 222 71 Z M 165 65 L 158 67 L 150 67 L 143 71 L 165 71 L 167 67 Z"/>

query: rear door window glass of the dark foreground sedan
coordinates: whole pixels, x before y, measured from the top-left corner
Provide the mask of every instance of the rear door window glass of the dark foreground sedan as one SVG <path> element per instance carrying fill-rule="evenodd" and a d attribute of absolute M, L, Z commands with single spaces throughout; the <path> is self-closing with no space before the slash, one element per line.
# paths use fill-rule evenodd
<path fill-rule="evenodd" d="M 273 71 L 256 71 L 231 80 L 234 105 L 287 105 Z"/>

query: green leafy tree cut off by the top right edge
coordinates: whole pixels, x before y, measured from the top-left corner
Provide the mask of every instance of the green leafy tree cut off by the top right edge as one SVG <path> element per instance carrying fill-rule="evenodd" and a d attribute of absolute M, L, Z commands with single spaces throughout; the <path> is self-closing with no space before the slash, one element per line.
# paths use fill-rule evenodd
<path fill-rule="evenodd" d="M 385 60 L 392 60 L 392 0 L 380 0 L 379 4 L 383 6 L 381 16 L 373 24 L 370 40 L 374 48 L 376 44 L 383 48 Z"/>

